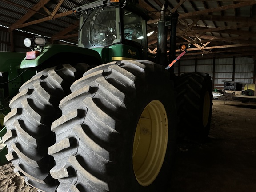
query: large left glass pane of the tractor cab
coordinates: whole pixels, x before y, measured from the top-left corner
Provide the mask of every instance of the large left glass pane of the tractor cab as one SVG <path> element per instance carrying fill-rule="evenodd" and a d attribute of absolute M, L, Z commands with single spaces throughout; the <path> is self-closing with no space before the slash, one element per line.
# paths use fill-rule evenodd
<path fill-rule="evenodd" d="M 80 17 L 78 46 L 85 48 L 105 47 L 121 41 L 118 7 L 93 9 Z"/>

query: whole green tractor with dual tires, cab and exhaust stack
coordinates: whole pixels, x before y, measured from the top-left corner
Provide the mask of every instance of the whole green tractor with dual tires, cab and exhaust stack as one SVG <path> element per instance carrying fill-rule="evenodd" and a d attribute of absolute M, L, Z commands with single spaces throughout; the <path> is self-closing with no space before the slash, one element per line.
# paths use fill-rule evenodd
<path fill-rule="evenodd" d="M 78 47 L 25 40 L 32 51 L 21 68 L 40 72 L 10 101 L 3 140 L 27 184 L 45 192 L 167 191 L 177 138 L 208 135 L 212 86 L 206 74 L 165 69 L 166 8 L 156 56 L 148 54 L 148 16 L 132 1 L 74 9 Z"/>

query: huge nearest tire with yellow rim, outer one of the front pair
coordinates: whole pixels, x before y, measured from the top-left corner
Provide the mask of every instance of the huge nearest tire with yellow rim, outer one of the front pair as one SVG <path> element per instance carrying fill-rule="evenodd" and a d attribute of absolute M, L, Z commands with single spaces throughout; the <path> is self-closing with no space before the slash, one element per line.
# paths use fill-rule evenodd
<path fill-rule="evenodd" d="M 175 147 L 173 83 L 149 61 L 104 64 L 84 74 L 53 122 L 58 192 L 167 191 Z"/>

